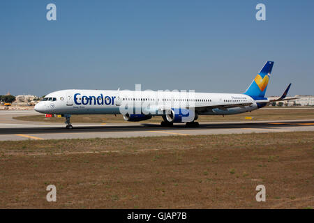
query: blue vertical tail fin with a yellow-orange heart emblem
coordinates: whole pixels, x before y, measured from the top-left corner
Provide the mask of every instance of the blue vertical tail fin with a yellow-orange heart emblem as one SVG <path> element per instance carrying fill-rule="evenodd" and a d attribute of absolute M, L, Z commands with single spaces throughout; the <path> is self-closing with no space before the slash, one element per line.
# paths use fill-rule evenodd
<path fill-rule="evenodd" d="M 273 65 L 273 61 L 267 61 L 244 94 L 254 99 L 264 98 Z"/>

